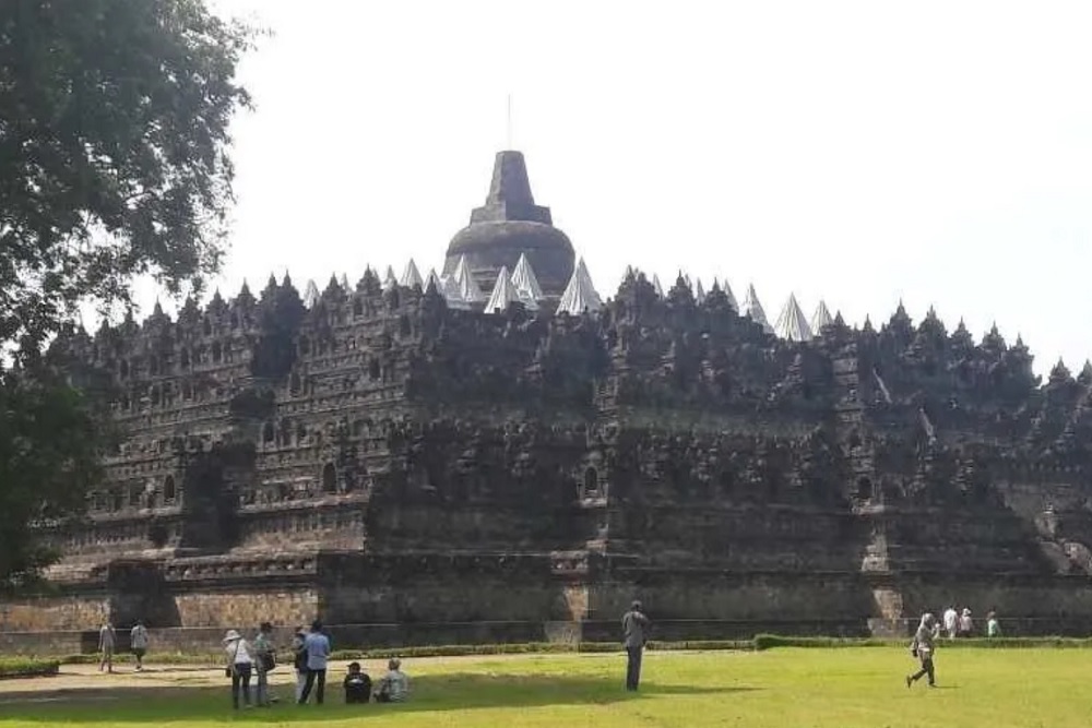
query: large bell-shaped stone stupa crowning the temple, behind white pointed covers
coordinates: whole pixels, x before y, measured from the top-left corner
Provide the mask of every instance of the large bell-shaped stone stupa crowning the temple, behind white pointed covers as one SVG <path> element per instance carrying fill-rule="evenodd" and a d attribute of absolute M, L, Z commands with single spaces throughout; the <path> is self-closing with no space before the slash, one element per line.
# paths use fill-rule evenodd
<path fill-rule="evenodd" d="M 568 236 L 554 227 L 549 207 L 535 204 L 527 166 L 520 152 L 499 152 L 485 205 L 451 239 L 443 273 L 466 263 L 483 290 L 490 290 L 502 267 L 513 270 L 525 254 L 543 294 L 557 298 L 572 277 L 574 254 Z"/>

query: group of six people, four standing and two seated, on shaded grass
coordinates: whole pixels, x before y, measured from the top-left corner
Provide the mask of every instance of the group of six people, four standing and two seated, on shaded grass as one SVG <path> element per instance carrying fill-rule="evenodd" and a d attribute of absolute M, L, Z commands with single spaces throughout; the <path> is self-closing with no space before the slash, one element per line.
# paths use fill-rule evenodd
<path fill-rule="evenodd" d="M 232 678 L 232 705 L 238 709 L 240 703 L 251 705 L 250 681 L 257 676 L 257 691 L 253 704 L 268 707 L 276 702 L 269 689 L 269 673 L 276 667 L 276 648 L 272 641 L 273 625 L 263 622 L 253 642 L 236 630 L 224 636 L 227 654 L 227 677 Z M 330 659 L 330 637 L 316 620 L 311 629 L 297 628 L 292 643 L 293 667 L 296 671 L 296 703 L 306 705 L 314 693 L 314 702 L 325 702 L 327 667 Z M 348 666 L 343 682 L 346 703 L 367 703 L 373 696 L 378 703 L 401 703 L 410 695 L 410 678 L 402 671 L 402 663 L 392 659 L 388 671 L 378 681 L 372 693 L 371 678 L 361 670 L 359 663 Z"/>

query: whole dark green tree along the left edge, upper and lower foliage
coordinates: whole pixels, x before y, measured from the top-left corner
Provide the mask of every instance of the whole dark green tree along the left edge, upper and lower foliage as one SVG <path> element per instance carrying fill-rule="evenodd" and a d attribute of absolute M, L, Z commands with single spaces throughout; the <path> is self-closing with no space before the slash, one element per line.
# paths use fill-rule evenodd
<path fill-rule="evenodd" d="M 253 38 L 204 0 L 0 2 L 0 585 L 96 475 L 95 403 L 46 344 L 135 276 L 177 294 L 221 263 Z"/>

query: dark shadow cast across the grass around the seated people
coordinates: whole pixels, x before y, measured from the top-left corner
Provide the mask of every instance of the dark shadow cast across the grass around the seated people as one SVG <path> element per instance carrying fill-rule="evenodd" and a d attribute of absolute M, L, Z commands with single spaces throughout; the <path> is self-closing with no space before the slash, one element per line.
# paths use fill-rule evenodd
<path fill-rule="evenodd" d="M 452 673 L 412 678 L 411 700 L 400 705 L 344 705 L 340 684 L 328 685 L 327 704 L 297 706 L 284 702 L 271 708 L 240 711 L 254 723 L 323 723 L 346 718 L 380 718 L 392 712 L 467 711 L 548 705 L 609 705 L 656 695 L 701 695 L 757 690 L 746 687 L 691 687 L 642 683 L 627 693 L 617 679 L 587 676 Z M 274 692 L 290 695 L 290 687 Z M 312 699 L 313 700 L 313 699 Z M 230 689 L 223 688 L 93 688 L 37 690 L 0 696 L 0 719 L 56 725 L 162 723 L 223 719 L 233 713 Z"/>

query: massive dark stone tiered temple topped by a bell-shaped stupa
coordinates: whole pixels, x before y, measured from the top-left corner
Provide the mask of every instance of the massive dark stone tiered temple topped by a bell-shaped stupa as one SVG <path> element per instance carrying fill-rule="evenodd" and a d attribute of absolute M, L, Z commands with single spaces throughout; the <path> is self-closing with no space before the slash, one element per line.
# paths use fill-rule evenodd
<path fill-rule="evenodd" d="M 855 329 L 791 298 L 771 325 L 753 287 L 682 275 L 603 300 L 518 153 L 442 275 L 271 277 L 57 346 L 109 375 L 122 437 L 51 588 L 0 612 L 16 646 L 106 614 L 614 640 L 633 597 L 658 639 L 949 602 L 1092 625 L 1092 366 L 1043 383 L 1019 338 L 901 305 Z"/>

